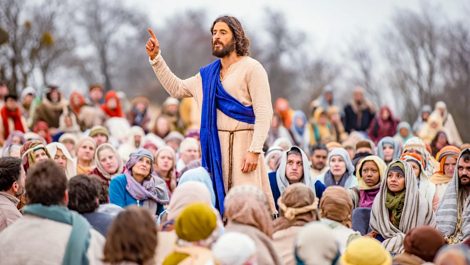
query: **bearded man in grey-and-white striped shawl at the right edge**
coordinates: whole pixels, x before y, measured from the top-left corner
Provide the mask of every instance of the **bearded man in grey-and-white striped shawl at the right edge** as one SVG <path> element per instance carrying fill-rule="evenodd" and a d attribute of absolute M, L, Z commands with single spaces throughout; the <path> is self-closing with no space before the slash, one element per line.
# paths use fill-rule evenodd
<path fill-rule="evenodd" d="M 470 236 L 470 149 L 457 159 L 454 176 L 447 186 L 436 211 L 439 231 L 449 244 Z"/>

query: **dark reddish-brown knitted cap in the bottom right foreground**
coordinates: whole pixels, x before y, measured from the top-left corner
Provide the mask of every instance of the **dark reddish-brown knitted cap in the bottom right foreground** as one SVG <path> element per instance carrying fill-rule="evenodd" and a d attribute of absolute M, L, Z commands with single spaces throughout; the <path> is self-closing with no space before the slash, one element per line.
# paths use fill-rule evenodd
<path fill-rule="evenodd" d="M 446 245 L 444 236 L 436 228 L 421 226 L 411 229 L 403 241 L 405 252 L 432 262 L 440 248 Z"/>

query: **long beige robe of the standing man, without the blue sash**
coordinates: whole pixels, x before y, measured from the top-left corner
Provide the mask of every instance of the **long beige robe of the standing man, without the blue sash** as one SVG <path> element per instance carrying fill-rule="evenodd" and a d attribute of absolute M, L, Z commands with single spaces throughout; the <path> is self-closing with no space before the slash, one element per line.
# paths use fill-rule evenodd
<path fill-rule="evenodd" d="M 173 98 L 194 97 L 199 110 L 202 109 L 203 89 L 200 73 L 181 80 L 168 68 L 161 53 L 158 53 L 154 60 L 150 60 L 150 63 L 163 87 Z M 263 144 L 273 118 L 271 92 L 266 71 L 258 61 L 245 56 L 228 68 L 227 74 L 221 78 L 220 82 L 225 91 L 244 106 L 253 106 L 255 113 L 255 124 L 249 124 L 230 118 L 217 109 L 217 127 L 219 130 L 254 129 L 254 131 L 234 133 L 232 187 L 243 184 L 258 186 L 266 193 L 271 212 L 276 213 L 264 155 L 262 154 Z M 219 131 L 222 174 L 226 192 L 228 192 L 229 173 L 229 134 L 229 132 Z M 258 168 L 250 173 L 243 173 L 242 163 L 247 151 L 261 154 L 259 155 Z"/>

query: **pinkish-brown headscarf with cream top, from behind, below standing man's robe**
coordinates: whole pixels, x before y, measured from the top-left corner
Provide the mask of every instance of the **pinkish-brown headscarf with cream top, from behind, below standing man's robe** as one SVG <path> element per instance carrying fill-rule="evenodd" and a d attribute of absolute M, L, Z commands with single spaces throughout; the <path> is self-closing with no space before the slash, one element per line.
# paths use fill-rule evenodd
<path fill-rule="evenodd" d="M 235 186 L 228 191 L 224 206 L 229 221 L 256 227 L 273 238 L 272 216 L 262 189 L 250 184 Z"/>

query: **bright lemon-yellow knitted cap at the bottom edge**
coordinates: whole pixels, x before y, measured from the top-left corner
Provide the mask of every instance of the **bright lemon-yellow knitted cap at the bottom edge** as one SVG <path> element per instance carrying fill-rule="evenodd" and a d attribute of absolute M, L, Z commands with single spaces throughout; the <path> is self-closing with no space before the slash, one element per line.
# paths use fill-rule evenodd
<path fill-rule="evenodd" d="M 392 265 L 387 250 L 370 237 L 361 237 L 349 243 L 339 260 L 342 265 Z"/>

